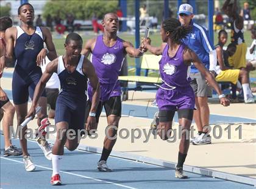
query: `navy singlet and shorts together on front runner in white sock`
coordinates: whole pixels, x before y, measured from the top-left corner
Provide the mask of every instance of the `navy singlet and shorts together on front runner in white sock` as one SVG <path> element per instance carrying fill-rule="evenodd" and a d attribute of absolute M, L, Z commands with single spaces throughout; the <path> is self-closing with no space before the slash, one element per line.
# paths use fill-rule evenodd
<path fill-rule="evenodd" d="M 82 71 L 84 55 L 81 55 L 74 72 L 66 70 L 63 57 L 59 57 L 58 76 L 60 92 L 56 101 L 55 124 L 67 122 L 69 129 L 83 129 L 87 101 L 87 76 Z"/>

